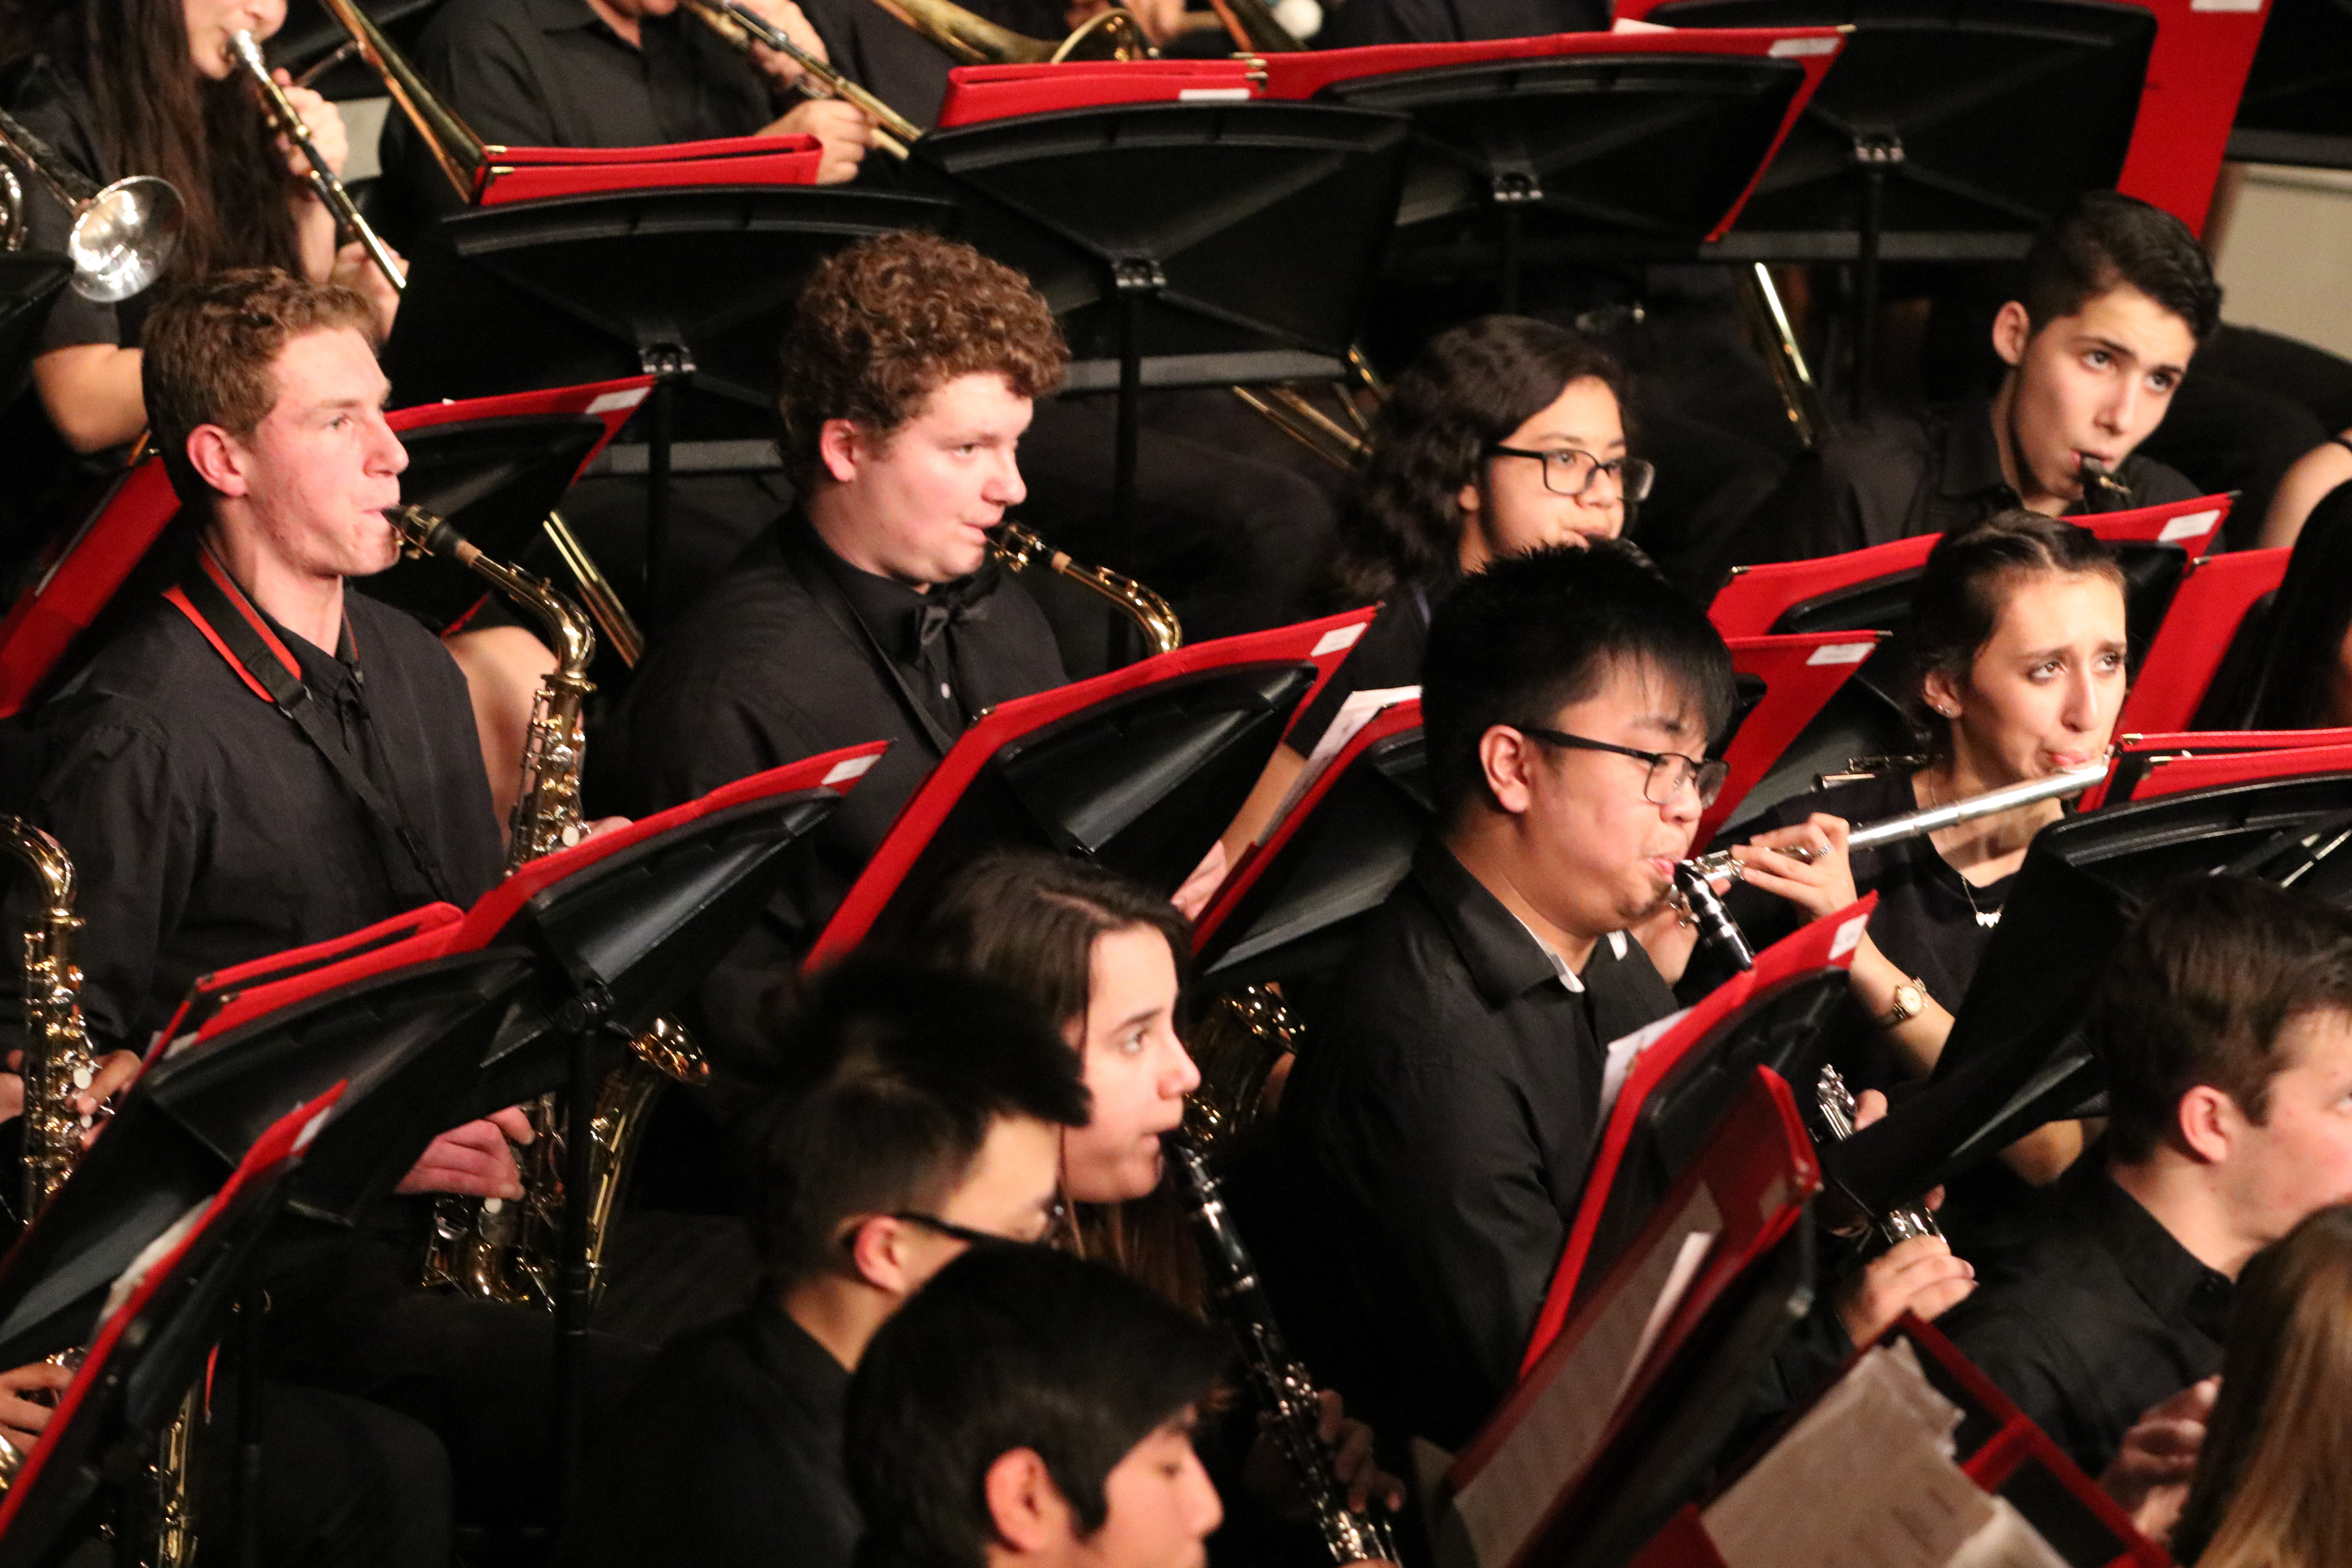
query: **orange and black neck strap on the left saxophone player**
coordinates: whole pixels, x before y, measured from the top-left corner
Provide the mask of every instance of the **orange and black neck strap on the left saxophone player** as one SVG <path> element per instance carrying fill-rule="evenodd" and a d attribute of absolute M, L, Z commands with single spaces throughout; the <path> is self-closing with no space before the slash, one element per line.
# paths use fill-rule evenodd
<path fill-rule="evenodd" d="M 212 550 L 198 552 L 195 567 L 162 597 L 195 625 L 247 691 L 301 731 L 334 771 L 343 792 L 360 804 L 376 835 L 383 875 L 402 907 L 435 900 L 461 903 L 452 898 L 437 856 L 409 825 L 407 813 L 367 776 L 360 759 L 343 745 L 343 736 L 336 733 L 339 726 L 325 715 L 322 703 L 313 701 L 310 686 L 301 679 L 301 661 L 294 658 L 285 637 L 270 628 L 238 588 L 238 581 L 212 557 Z"/>

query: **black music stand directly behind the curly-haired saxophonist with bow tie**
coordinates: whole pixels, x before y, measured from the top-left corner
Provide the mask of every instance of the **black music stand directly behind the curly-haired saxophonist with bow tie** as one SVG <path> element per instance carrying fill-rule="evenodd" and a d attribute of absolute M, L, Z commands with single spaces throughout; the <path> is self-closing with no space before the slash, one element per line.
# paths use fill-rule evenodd
<path fill-rule="evenodd" d="M 964 235 L 1051 301 L 1068 390 L 1117 388 L 1122 555 L 1143 386 L 1348 374 L 1404 143 L 1395 115 L 1312 103 L 1122 103 L 915 143 L 913 183 L 953 197 Z"/>

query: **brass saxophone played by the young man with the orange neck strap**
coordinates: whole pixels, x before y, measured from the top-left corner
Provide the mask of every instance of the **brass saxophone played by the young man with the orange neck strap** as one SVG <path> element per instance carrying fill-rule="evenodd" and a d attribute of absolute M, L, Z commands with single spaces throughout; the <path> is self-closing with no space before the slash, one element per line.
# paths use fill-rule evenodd
<path fill-rule="evenodd" d="M 494 562 L 447 522 L 414 505 L 386 512 L 409 555 L 440 555 L 494 583 L 536 618 L 555 644 L 555 670 L 532 701 L 522 743 L 522 795 L 508 818 L 508 870 L 581 842 L 581 762 L 588 755 L 583 705 L 595 682 L 595 623 L 546 578 Z M 539 1095 L 524 1114 L 536 1138 L 520 1154 L 522 1199 L 442 1197 L 433 1206 L 423 1284 L 454 1286 L 477 1300 L 555 1307 L 555 1260 L 564 1201 L 588 1204 L 588 1276 L 602 1284 L 604 1241 L 612 1229 L 628 1157 L 644 1138 L 644 1112 L 663 1084 L 701 1084 L 710 1065 L 668 1018 L 628 1044 L 628 1060 L 604 1074 L 586 1126 L 593 1150 L 590 1187 L 564 1192 L 564 1128 L 555 1095 Z"/>

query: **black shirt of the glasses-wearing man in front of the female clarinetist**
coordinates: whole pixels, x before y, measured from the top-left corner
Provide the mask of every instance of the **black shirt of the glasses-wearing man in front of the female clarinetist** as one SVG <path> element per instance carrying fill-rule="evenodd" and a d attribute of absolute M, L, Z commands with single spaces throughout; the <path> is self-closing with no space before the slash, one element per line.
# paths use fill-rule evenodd
<path fill-rule="evenodd" d="M 677 1340 L 581 1490 L 576 1568 L 849 1568 L 849 1373 L 771 1302 Z"/>

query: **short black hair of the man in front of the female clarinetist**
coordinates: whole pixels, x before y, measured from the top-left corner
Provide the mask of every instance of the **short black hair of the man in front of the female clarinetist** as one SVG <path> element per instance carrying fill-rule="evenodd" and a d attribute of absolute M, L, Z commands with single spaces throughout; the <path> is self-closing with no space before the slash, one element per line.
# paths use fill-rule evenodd
<path fill-rule="evenodd" d="M 1000 1117 L 1084 1126 L 1091 1110 L 1061 1034 L 976 976 L 851 957 L 776 1044 L 783 1084 L 743 1140 L 774 1286 L 826 1269 L 847 1220 L 938 1204 Z"/>

